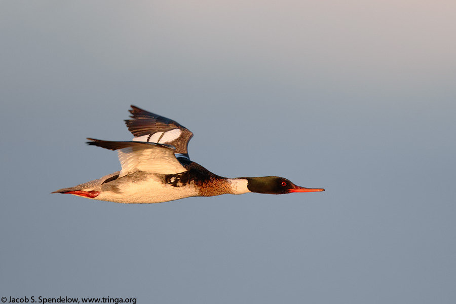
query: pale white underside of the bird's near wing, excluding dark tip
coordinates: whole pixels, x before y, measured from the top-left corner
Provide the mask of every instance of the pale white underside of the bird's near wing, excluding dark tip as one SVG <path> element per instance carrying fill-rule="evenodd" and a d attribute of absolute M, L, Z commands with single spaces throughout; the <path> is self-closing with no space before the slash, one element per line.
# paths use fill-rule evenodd
<path fill-rule="evenodd" d="M 119 177 L 142 171 L 176 174 L 186 171 L 174 156 L 174 150 L 160 146 L 129 147 L 118 150 L 122 170 Z"/>

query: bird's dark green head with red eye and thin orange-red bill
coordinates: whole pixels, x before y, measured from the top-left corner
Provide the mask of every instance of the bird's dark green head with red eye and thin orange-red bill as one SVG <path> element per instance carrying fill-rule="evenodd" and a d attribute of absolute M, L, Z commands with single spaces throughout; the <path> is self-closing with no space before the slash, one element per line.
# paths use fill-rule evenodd
<path fill-rule="evenodd" d="M 292 183 L 286 178 L 278 176 L 263 176 L 263 177 L 240 177 L 247 179 L 247 188 L 250 192 L 264 194 L 286 194 L 292 192 L 317 192 L 325 191 L 325 189 L 313 189 L 300 187 Z"/>

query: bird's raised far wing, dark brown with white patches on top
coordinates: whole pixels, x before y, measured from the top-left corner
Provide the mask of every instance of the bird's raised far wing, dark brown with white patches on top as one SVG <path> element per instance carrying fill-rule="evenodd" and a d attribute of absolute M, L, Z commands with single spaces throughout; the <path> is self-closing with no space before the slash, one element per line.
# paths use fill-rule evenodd
<path fill-rule="evenodd" d="M 131 106 L 131 118 L 126 120 L 128 130 L 133 133 L 134 141 L 155 142 L 173 145 L 175 153 L 188 158 L 187 145 L 193 133 L 176 121 Z"/>

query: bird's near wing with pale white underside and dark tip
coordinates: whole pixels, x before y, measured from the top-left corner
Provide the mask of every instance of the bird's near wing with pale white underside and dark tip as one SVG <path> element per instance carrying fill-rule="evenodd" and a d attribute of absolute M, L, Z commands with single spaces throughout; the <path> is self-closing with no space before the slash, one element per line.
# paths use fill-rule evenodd
<path fill-rule="evenodd" d="M 176 174 L 186 171 L 174 156 L 175 147 L 168 144 L 140 141 L 107 141 L 92 139 L 89 145 L 118 150 L 122 170 L 119 177 L 142 171 Z"/>

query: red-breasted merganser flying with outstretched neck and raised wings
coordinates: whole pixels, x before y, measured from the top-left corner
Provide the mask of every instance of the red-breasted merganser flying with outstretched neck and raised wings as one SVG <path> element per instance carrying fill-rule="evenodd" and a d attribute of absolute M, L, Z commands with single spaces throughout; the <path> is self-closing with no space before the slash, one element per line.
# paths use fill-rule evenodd
<path fill-rule="evenodd" d="M 187 153 L 193 133 L 163 116 L 131 106 L 126 120 L 133 141 L 87 138 L 89 145 L 117 150 L 122 170 L 53 193 L 117 203 L 161 203 L 193 196 L 285 194 L 325 191 L 304 188 L 278 176 L 226 178 L 192 162 Z"/>

